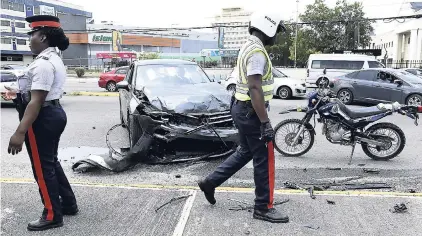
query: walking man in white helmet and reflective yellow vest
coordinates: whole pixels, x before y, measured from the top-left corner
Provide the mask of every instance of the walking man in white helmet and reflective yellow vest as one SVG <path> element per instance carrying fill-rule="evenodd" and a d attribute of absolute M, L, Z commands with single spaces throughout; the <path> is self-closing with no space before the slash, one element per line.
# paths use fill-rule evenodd
<path fill-rule="evenodd" d="M 266 45 L 274 45 L 277 33 L 284 31 L 279 14 L 255 13 L 251 16 L 251 36 L 239 51 L 238 81 L 231 113 L 239 130 L 236 152 L 198 183 L 206 199 L 215 204 L 215 188 L 245 166 L 254 165 L 255 209 L 253 217 L 273 223 L 286 223 L 288 216 L 273 208 L 274 130 L 266 108 L 272 99 L 273 77 Z"/>

